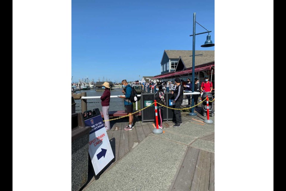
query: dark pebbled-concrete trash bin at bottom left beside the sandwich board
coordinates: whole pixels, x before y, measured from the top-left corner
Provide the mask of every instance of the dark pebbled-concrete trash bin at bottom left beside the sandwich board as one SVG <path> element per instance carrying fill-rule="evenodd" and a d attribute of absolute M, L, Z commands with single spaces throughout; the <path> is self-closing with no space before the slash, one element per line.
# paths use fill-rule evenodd
<path fill-rule="evenodd" d="M 72 99 L 73 100 L 73 99 Z M 78 191 L 88 180 L 88 141 L 82 113 L 71 114 L 71 190 Z"/>

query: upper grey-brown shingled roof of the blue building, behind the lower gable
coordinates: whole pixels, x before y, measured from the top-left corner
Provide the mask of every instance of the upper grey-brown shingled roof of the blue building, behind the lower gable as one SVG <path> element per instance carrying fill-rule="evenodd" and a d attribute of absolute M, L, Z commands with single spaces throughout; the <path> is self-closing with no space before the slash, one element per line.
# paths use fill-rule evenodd
<path fill-rule="evenodd" d="M 192 56 L 192 50 L 165 50 L 169 59 L 178 59 L 180 56 Z M 195 55 L 213 56 L 215 58 L 214 50 L 196 50 Z M 214 59 L 215 60 L 215 59 Z"/>

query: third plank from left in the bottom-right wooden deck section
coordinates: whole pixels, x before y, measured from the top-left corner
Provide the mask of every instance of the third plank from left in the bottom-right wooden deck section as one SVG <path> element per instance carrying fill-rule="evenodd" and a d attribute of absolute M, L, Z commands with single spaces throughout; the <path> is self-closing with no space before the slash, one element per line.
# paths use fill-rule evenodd
<path fill-rule="evenodd" d="M 209 170 L 211 165 L 211 153 L 206 152 L 203 157 L 203 169 L 200 177 L 199 190 L 209 191 Z"/>

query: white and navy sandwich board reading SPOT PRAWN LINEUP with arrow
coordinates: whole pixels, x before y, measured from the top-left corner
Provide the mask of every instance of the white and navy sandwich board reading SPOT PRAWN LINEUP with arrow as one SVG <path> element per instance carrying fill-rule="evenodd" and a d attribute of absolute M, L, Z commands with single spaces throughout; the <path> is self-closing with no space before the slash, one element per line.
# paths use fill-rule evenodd
<path fill-rule="evenodd" d="M 86 126 L 91 126 L 89 132 L 88 152 L 91 163 L 97 175 L 110 161 L 114 155 L 110 146 L 101 115 L 84 120 Z"/>

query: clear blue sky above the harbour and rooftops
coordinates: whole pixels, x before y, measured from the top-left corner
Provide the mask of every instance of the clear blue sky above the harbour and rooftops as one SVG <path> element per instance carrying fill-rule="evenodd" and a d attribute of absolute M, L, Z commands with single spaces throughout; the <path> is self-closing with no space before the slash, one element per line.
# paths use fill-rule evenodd
<path fill-rule="evenodd" d="M 214 0 L 72 0 L 72 81 L 160 74 L 164 50 L 192 50 L 193 13 L 215 43 Z M 196 24 L 196 33 L 204 31 Z M 214 50 L 200 47 L 206 36 L 196 36 L 196 50 Z"/>

